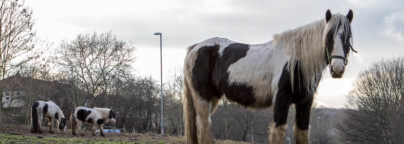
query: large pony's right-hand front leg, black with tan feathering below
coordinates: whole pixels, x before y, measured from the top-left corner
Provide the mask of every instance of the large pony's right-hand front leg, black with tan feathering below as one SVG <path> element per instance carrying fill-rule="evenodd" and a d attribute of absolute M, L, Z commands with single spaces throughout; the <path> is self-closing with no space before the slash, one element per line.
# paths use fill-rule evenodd
<path fill-rule="evenodd" d="M 309 144 L 309 120 L 313 99 L 303 104 L 296 104 L 295 141 L 296 144 Z"/>

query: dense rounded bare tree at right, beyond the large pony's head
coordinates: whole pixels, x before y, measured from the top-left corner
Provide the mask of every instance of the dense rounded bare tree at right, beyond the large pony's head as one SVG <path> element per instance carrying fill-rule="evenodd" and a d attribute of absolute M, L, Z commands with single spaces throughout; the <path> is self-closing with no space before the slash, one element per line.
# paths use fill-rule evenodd
<path fill-rule="evenodd" d="M 404 141 L 404 56 L 375 61 L 361 71 L 349 92 L 345 117 L 338 126 L 353 144 Z"/>

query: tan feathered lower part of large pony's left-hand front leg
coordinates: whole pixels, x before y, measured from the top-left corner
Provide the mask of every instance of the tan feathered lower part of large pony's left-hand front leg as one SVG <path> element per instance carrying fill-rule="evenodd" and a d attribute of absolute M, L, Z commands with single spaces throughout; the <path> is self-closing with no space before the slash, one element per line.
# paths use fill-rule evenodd
<path fill-rule="evenodd" d="M 276 126 L 276 122 L 272 122 L 269 126 L 269 144 L 282 144 L 286 127 L 286 124 Z"/>

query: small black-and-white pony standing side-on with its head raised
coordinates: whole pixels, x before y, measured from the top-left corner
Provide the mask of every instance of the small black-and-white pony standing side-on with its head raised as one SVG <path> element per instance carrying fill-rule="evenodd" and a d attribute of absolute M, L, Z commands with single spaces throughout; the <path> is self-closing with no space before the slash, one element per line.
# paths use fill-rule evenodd
<path fill-rule="evenodd" d="M 72 115 L 70 115 L 70 122 L 72 123 L 72 134 L 76 136 L 76 127 L 80 132 L 80 136 L 84 136 L 83 131 L 81 130 L 82 123 L 92 124 L 93 125 L 93 136 L 96 136 L 95 130 L 97 130 L 97 126 L 99 127 L 101 136 L 105 136 L 103 132 L 103 123 L 108 123 L 111 121 L 115 123 L 116 113 L 111 109 L 102 109 L 102 108 L 86 108 L 86 107 L 76 107 L 72 111 Z"/>

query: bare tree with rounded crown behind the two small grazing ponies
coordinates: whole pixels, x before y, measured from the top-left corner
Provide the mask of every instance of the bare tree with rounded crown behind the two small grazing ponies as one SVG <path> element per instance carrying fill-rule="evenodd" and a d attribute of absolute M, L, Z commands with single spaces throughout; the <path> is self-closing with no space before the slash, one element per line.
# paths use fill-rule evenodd
<path fill-rule="evenodd" d="M 76 78 L 90 96 L 97 96 L 108 92 L 114 79 L 128 75 L 135 50 L 132 42 L 118 40 L 112 31 L 87 32 L 71 41 L 62 40 L 52 61 Z"/>

